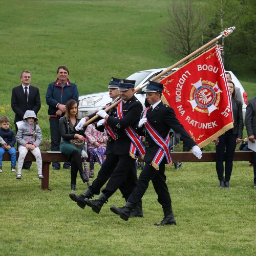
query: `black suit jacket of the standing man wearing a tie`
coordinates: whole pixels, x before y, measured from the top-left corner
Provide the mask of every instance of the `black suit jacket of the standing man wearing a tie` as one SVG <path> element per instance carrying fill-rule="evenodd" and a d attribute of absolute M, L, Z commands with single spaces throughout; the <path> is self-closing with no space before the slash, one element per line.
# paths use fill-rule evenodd
<path fill-rule="evenodd" d="M 37 115 L 41 108 L 40 94 L 37 87 L 29 86 L 28 102 L 22 84 L 12 89 L 12 110 L 15 113 L 14 123 L 22 121 L 27 110 L 33 110 Z"/>

